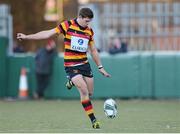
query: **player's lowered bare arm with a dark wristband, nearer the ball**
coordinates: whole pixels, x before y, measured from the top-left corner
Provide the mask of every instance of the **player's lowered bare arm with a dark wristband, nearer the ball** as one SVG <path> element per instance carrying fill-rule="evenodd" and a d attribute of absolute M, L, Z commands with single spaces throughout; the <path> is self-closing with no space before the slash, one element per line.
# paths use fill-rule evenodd
<path fill-rule="evenodd" d="M 111 75 L 109 73 L 107 73 L 106 70 L 104 69 L 104 67 L 102 66 L 101 60 L 99 57 L 99 53 L 98 53 L 96 47 L 94 46 L 94 44 L 89 45 L 89 50 L 91 52 L 91 56 L 92 56 L 94 62 L 98 66 L 99 72 L 101 74 L 103 74 L 105 77 L 111 77 Z"/>

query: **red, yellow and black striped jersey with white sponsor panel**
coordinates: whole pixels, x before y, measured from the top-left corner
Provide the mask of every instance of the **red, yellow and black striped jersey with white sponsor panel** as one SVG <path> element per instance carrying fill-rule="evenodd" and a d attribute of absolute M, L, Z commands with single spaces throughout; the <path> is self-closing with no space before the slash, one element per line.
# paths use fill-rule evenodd
<path fill-rule="evenodd" d="M 64 35 L 64 66 L 77 66 L 88 62 L 87 49 L 94 44 L 93 30 L 83 28 L 77 19 L 63 21 L 56 28 L 56 33 Z"/>

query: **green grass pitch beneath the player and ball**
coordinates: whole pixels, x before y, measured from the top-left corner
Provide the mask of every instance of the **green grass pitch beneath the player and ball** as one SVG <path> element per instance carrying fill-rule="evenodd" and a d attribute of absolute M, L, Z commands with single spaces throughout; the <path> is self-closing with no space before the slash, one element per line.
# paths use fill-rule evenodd
<path fill-rule="evenodd" d="M 180 100 L 116 100 L 108 119 L 103 100 L 94 100 L 101 129 L 94 130 L 78 100 L 0 101 L 0 132 L 169 133 L 180 132 Z"/>

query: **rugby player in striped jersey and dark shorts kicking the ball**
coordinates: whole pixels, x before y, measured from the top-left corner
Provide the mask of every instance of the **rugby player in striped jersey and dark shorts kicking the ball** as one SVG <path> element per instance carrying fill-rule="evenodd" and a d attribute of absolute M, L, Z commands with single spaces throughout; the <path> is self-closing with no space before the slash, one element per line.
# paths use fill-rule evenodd
<path fill-rule="evenodd" d="M 64 67 L 67 76 L 71 80 L 80 93 L 82 106 L 89 116 L 92 127 L 100 128 L 97 121 L 90 97 L 93 94 L 93 73 L 87 59 L 87 51 L 90 50 L 91 56 L 96 63 L 99 72 L 105 77 L 110 77 L 103 68 L 97 49 L 94 45 L 94 33 L 89 27 L 94 15 L 90 8 L 82 8 L 78 17 L 71 20 L 66 20 L 60 23 L 56 28 L 41 31 L 35 34 L 25 35 L 17 34 L 17 39 L 47 39 L 55 34 L 64 35 Z"/>

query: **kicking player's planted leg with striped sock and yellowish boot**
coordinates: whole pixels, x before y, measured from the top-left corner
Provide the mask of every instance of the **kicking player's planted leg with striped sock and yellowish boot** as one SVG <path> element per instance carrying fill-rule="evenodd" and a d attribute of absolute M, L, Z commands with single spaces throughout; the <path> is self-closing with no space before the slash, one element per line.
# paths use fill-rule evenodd
<path fill-rule="evenodd" d="M 97 122 L 96 117 L 94 115 L 93 106 L 89 98 L 88 87 L 87 87 L 86 81 L 83 79 L 83 76 L 78 74 L 74 76 L 71 80 L 74 83 L 74 85 L 77 87 L 77 89 L 79 90 L 82 106 L 85 112 L 87 113 L 87 115 L 89 116 L 93 124 L 93 128 L 100 128 L 99 122 Z"/>

